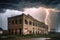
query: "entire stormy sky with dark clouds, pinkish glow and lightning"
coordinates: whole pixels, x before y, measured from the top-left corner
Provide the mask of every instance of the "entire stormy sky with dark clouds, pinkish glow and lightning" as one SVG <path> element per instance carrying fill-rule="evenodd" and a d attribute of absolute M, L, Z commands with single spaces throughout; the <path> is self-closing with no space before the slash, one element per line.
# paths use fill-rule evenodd
<path fill-rule="evenodd" d="M 56 28 L 57 31 L 60 28 L 60 12 L 57 10 L 60 10 L 60 0 L 1 0 L 0 27 L 6 30 L 7 18 L 24 12 L 45 22 L 49 27 Z"/>

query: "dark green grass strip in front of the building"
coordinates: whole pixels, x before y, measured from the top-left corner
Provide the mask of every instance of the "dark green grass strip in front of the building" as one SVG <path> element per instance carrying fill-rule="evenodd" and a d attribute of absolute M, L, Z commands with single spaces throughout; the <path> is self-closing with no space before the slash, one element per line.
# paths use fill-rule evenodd
<path fill-rule="evenodd" d="M 2 36 L 6 36 L 7 38 L 2 38 Z M 18 38 L 60 38 L 59 34 L 29 34 L 29 35 L 0 35 L 0 40 L 10 40 L 10 39 L 18 39 Z"/>

